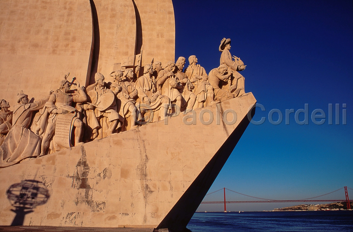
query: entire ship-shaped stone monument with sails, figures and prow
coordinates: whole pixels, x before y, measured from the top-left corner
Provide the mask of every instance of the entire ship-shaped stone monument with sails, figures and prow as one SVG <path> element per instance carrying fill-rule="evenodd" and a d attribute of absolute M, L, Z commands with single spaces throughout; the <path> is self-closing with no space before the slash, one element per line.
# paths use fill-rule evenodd
<path fill-rule="evenodd" d="M 171 0 L 0 12 L 0 225 L 184 231 L 255 113 L 231 39 L 207 74 Z"/>

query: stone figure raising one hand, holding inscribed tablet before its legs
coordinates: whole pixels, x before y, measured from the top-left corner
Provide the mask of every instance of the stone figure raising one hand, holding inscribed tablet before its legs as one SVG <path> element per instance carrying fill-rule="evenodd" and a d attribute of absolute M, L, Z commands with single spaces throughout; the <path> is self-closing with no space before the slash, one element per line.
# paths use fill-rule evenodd
<path fill-rule="evenodd" d="M 83 144 L 81 142 L 82 126 L 79 112 L 72 107 L 72 103 L 82 103 L 87 100 L 87 96 L 78 81 L 76 81 L 77 90 L 70 90 L 70 83 L 65 79 L 59 83 L 59 88 L 56 90 L 48 102 L 45 104 L 48 110 L 48 124 L 43 133 L 43 140 L 41 145 L 41 154 L 46 154 L 49 146 L 49 140 L 52 138 L 54 132 L 55 136 L 53 151 L 60 151 L 62 148 L 72 147 L 71 133 L 74 129 L 74 146 Z M 52 149 L 52 148 L 51 148 Z"/>

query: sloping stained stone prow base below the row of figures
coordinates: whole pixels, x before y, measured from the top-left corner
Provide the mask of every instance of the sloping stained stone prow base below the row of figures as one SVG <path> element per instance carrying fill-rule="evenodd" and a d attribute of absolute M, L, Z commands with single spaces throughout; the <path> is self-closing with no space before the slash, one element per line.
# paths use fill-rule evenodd
<path fill-rule="evenodd" d="M 0 170 L 0 225 L 10 225 L 6 190 L 37 180 L 50 197 L 23 225 L 185 227 L 246 129 L 252 93 L 220 103 L 235 124 L 185 125 L 181 114 Z M 216 113 L 217 106 L 197 109 Z M 217 114 L 217 113 L 216 113 Z M 207 121 L 204 114 L 204 121 Z M 232 118 L 230 118 L 231 121 Z M 185 214 L 185 215 L 183 215 Z"/>

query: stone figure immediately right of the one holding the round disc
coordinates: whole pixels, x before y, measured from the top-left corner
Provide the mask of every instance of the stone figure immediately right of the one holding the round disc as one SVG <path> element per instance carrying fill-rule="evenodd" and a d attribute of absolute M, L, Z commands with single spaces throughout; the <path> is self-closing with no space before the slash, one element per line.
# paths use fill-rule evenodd
<path fill-rule="evenodd" d="M 131 69 L 132 72 L 132 69 Z M 138 127 L 137 125 L 137 108 L 135 106 L 137 96 L 136 88 L 128 81 L 123 81 L 124 73 L 117 70 L 113 73 L 114 81 L 110 85 L 110 90 L 117 97 L 117 106 L 119 115 L 125 118 L 130 117 L 130 129 Z"/>

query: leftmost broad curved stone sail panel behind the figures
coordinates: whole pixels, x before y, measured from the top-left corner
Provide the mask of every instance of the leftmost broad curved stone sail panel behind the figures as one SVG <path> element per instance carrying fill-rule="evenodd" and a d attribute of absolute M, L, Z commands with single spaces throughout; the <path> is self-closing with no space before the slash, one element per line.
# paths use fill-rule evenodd
<path fill-rule="evenodd" d="M 0 1 L 0 96 L 40 99 L 64 74 L 84 85 L 92 43 L 89 0 Z"/>

